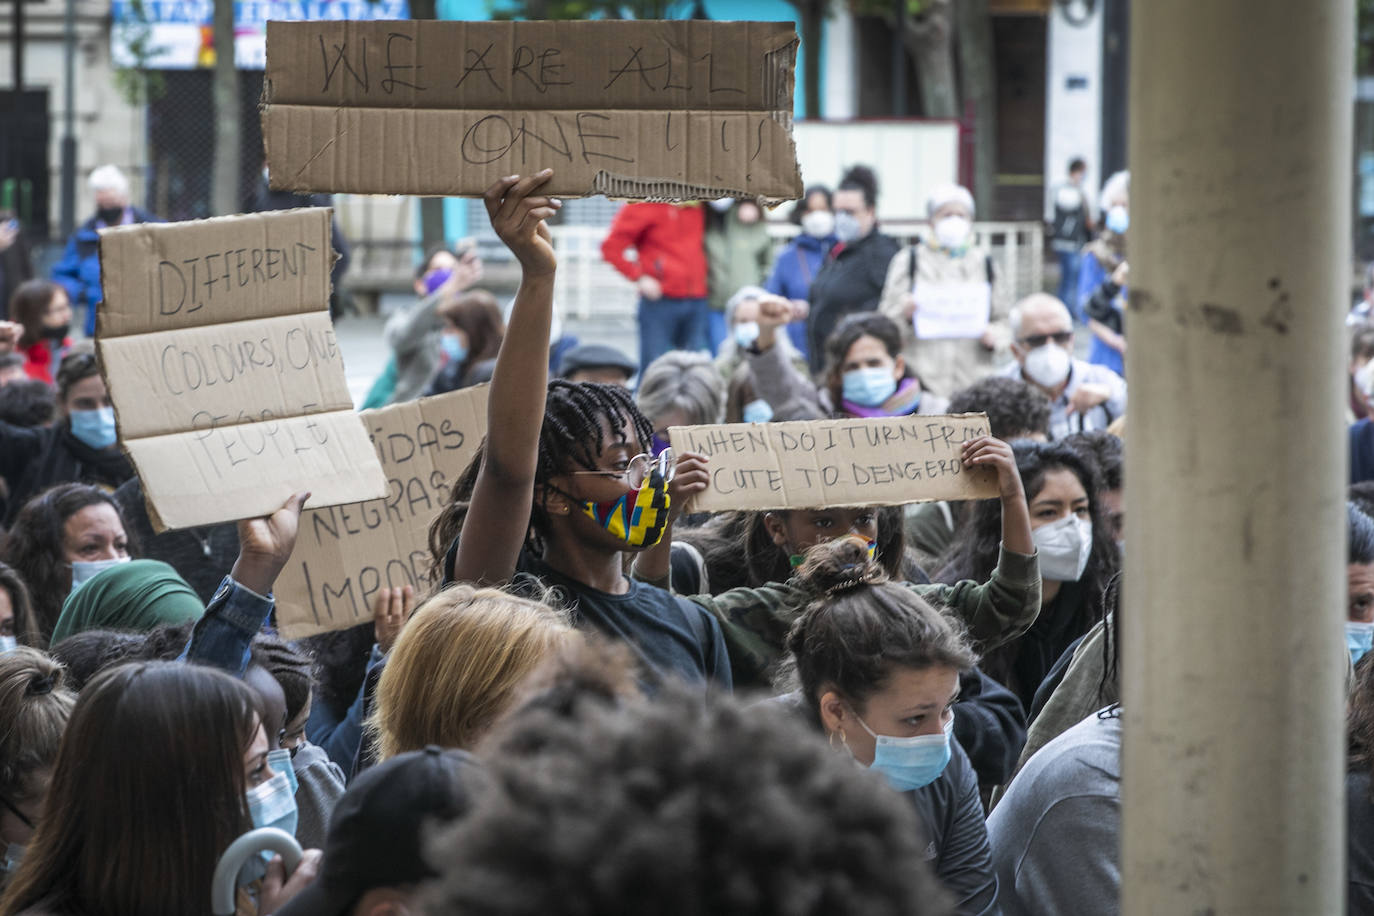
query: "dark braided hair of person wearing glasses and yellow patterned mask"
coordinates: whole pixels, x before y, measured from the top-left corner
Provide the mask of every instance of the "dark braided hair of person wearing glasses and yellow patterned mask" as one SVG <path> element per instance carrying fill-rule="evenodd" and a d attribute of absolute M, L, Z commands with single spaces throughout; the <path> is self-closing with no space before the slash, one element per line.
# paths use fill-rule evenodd
<path fill-rule="evenodd" d="M 628 389 L 565 379 L 548 383 L 544 423 L 539 431 L 539 461 L 534 467 L 536 496 L 529 514 L 529 533 L 525 537 L 526 549 L 536 556 L 544 555 L 548 537 L 548 512 L 544 509 L 539 488 L 573 468 L 595 471 L 602 455 L 602 434 L 607 430 L 625 433 L 625 437 L 631 442 L 638 442 L 639 448 L 647 446 L 654 437 L 653 426 L 639 412 Z M 448 504 L 430 525 L 430 575 L 436 581 L 444 578 L 444 558 L 453 540 L 463 531 L 485 452 L 484 439 L 467 470 L 453 483 Z"/>

